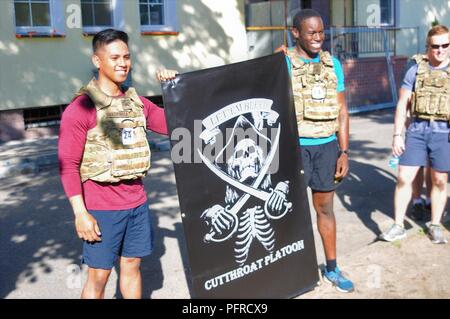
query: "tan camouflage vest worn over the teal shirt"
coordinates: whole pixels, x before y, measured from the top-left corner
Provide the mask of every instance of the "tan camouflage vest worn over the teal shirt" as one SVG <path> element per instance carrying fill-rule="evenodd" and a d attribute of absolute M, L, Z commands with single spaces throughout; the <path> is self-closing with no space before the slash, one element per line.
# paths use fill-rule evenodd
<path fill-rule="evenodd" d="M 320 62 L 305 63 L 295 50 L 287 54 L 292 63 L 292 89 L 300 137 L 328 137 L 339 130 L 337 77 L 328 52 Z"/>

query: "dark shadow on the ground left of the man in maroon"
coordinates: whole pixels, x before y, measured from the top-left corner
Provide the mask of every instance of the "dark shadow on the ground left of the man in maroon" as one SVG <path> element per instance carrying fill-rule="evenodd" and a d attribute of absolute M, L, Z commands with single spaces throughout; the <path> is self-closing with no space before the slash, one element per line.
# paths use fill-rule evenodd
<path fill-rule="evenodd" d="M 79 263 L 81 245 L 56 169 L 3 179 L 0 193 L 0 298 L 18 282 L 54 272 L 52 260 Z"/>

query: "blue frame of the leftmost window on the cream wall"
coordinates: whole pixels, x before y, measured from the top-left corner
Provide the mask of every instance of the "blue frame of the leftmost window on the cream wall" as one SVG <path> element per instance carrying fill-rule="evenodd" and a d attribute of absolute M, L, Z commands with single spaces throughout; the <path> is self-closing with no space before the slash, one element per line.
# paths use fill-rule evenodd
<path fill-rule="evenodd" d="M 18 3 L 43 3 L 42 0 L 17 0 Z M 16 0 L 12 1 L 13 21 L 17 37 L 21 36 L 65 36 L 65 17 L 61 1 L 49 0 L 50 25 L 48 26 L 17 26 Z M 31 17 L 30 17 L 31 19 Z"/>

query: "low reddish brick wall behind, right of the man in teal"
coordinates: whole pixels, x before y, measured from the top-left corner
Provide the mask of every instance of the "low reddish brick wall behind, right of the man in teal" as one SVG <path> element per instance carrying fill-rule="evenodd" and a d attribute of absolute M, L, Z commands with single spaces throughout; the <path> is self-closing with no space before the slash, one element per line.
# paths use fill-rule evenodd
<path fill-rule="evenodd" d="M 392 58 L 397 90 L 401 84 L 407 58 Z M 349 107 L 384 104 L 392 101 L 387 63 L 384 57 L 346 60 L 342 63 Z"/>

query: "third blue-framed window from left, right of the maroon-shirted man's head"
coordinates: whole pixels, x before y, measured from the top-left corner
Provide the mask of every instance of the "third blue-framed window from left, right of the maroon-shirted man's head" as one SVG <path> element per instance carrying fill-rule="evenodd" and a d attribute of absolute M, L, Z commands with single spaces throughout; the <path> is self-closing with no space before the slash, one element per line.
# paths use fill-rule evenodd
<path fill-rule="evenodd" d="M 139 0 L 142 32 L 176 32 L 176 0 Z"/>

